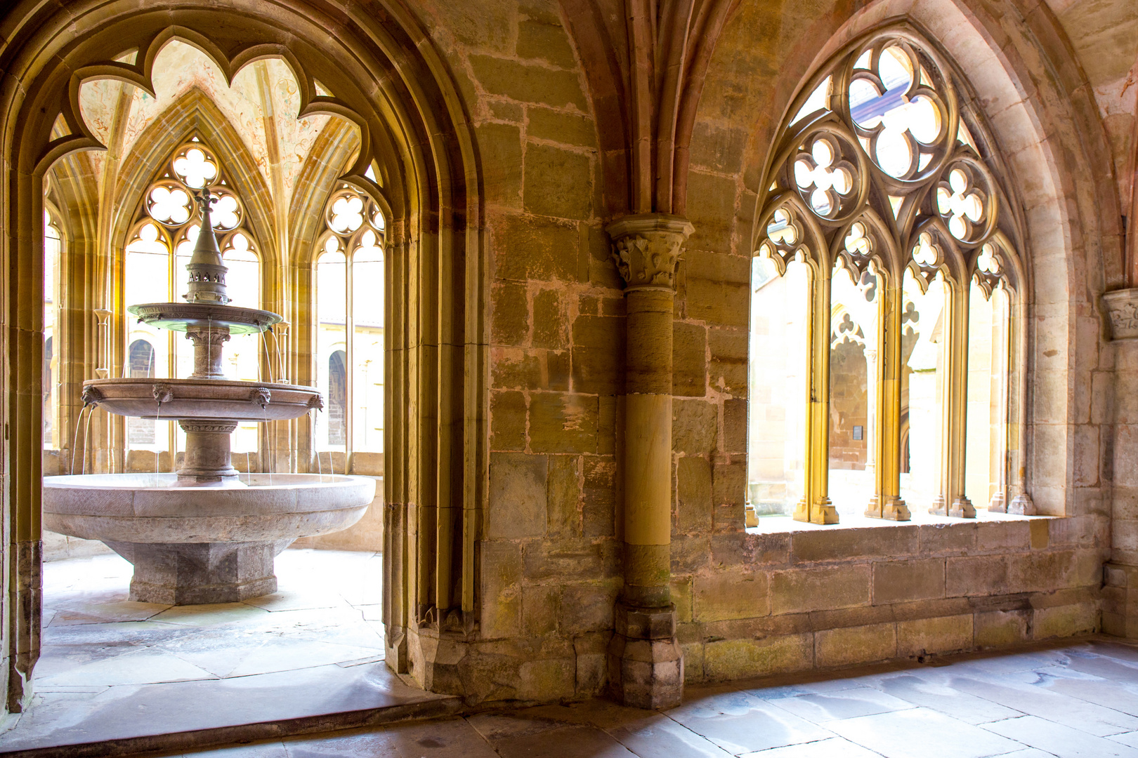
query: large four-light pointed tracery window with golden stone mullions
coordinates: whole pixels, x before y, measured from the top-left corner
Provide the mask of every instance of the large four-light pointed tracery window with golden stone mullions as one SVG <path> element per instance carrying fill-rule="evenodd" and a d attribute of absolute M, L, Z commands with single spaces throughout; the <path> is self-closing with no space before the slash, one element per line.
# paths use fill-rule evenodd
<path fill-rule="evenodd" d="M 752 266 L 754 514 L 1007 502 L 1020 235 L 958 81 L 897 28 L 839 53 L 791 108 Z M 780 448 L 801 453 L 773 465 Z"/>

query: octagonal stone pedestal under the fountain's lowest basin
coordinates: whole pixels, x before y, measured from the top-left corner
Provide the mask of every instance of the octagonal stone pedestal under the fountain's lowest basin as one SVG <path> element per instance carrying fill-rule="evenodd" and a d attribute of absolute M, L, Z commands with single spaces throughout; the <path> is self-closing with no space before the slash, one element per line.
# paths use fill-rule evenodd
<path fill-rule="evenodd" d="M 164 606 L 240 602 L 272 594 L 273 559 L 291 542 L 105 541 L 134 565 L 131 600 Z"/>

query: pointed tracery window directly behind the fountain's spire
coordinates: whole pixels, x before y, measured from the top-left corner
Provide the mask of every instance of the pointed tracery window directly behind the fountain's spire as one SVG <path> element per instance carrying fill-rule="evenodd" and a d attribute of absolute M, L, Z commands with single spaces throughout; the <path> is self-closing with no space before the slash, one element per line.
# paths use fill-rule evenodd
<path fill-rule="evenodd" d="M 134 225 L 127 235 L 123 305 L 181 302 L 188 291 L 185 264 L 201 232 L 193 193 L 203 188 L 218 198 L 212 222 L 229 273 L 225 283 L 237 306 L 261 308 L 261 260 L 247 224 L 244 203 L 230 185 L 214 151 L 198 138 L 174 150 L 160 176 L 147 189 Z M 127 316 L 124 376 L 184 378 L 193 372 L 192 344 L 180 332 L 162 331 L 134 323 Z M 150 368 L 143 372 L 143 345 Z M 226 345 L 226 370 L 233 378 L 261 378 L 261 338 L 233 336 Z M 133 423 L 131 423 L 133 422 Z M 184 445 L 184 432 L 173 423 L 131 419 L 126 425 L 127 449 L 171 450 Z M 155 431 L 157 428 L 157 432 Z M 257 450 L 258 427 L 241 424 L 232 436 L 234 452 Z"/>

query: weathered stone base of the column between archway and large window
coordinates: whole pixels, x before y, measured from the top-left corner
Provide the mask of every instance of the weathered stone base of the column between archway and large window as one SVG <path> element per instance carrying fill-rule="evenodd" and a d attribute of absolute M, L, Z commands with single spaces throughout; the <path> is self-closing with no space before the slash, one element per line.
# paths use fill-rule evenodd
<path fill-rule="evenodd" d="M 609 692 L 624 706 L 660 710 L 684 698 L 684 653 L 676 639 L 676 607 L 635 608 L 617 602 L 609 642 Z"/>

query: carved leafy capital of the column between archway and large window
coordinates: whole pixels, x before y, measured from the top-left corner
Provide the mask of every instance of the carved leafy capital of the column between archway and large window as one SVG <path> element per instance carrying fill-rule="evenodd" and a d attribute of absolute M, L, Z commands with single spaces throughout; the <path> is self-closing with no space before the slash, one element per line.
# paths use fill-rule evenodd
<path fill-rule="evenodd" d="M 679 245 L 693 230 L 690 220 L 669 214 L 624 216 L 605 226 L 625 290 L 675 290 Z"/>

